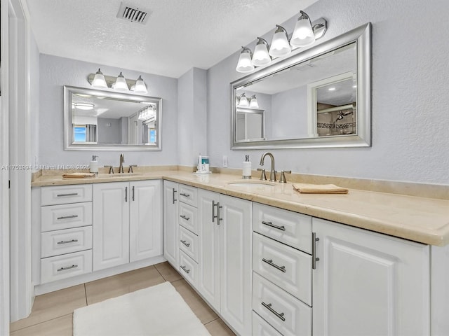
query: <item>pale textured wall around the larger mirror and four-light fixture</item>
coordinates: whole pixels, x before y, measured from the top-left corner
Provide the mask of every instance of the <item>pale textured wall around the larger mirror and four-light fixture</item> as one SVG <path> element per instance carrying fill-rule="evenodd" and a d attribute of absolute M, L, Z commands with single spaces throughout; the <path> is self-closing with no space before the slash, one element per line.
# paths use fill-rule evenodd
<path fill-rule="evenodd" d="M 373 23 L 373 146 L 272 150 L 276 169 L 449 184 L 449 43 L 444 23 L 449 3 L 320 0 L 306 11 L 312 21 L 328 20 L 326 36 L 319 42 Z M 292 14 L 285 23 L 288 31 L 293 30 L 297 18 L 297 13 Z M 235 71 L 238 57 L 236 45 L 234 55 L 208 70 L 209 155 L 213 166 L 220 166 L 222 155 L 227 155 L 229 167 L 241 168 L 244 155 L 250 154 L 256 168 L 255 158 L 260 158 L 262 151 L 229 149 L 229 83 L 242 77 Z"/>

